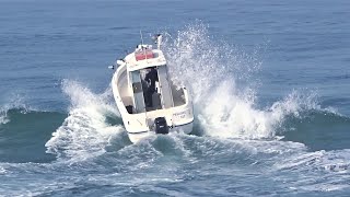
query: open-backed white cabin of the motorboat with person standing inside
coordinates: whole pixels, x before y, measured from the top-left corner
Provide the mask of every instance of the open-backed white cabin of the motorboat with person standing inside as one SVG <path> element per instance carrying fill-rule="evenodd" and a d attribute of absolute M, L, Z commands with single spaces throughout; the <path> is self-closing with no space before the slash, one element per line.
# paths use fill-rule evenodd
<path fill-rule="evenodd" d="M 129 114 L 167 109 L 186 103 L 184 91 L 170 80 L 161 50 L 141 45 L 126 57 L 126 65 L 132 100 L 132 105 L 126 105 Z"/>

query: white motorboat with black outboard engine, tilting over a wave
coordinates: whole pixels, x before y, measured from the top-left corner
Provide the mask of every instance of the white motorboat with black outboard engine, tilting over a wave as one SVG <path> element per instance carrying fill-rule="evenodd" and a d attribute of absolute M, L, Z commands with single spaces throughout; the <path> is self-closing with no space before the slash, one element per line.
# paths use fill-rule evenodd
<path fill-rule="evenodd" d="M 162 36 L 158 35 L 156 49 L 141 44 L 116 62 L 112 89 L 133 143 L 150 135 L 192 130 L 194 112 L 188 90 L 171 80 L 161 42 Z"/>

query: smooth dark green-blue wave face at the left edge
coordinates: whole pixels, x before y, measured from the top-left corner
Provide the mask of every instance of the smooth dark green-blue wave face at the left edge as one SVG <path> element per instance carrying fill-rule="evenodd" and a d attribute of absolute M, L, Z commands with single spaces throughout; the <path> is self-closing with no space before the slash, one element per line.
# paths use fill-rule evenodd
<path fill-rule="evenodd" d="M 0 125 L 0 162 L 49 162 L 45 142 L 67 114 L 11 108 L 7 123 Z"/>

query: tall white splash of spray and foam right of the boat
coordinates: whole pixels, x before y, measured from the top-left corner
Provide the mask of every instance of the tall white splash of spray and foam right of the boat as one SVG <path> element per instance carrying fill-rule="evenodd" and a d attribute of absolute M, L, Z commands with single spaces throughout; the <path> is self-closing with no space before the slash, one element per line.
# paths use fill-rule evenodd
<path fill-rule="evenodd" d="M 165 38 L 165 55 L 175 83 L 189 86 L 201 127 L 209 136 L 223 138 L 270 138 L 287 115 L 318 107 L 316 94 L 293 91 L 267 109 L 255 106 L 252 77 L 261 61 L 258 53 L 241 53 L 236 47 L 214 43 L 208 28 L 195 24 Z M 237 81 L 245 79 L 241 88 Z"/>

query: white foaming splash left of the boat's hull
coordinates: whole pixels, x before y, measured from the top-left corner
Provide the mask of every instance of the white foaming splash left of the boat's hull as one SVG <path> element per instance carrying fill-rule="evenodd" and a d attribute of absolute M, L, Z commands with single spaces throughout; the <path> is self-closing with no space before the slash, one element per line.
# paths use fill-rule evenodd
<path fill-rule="evenodd" d="M 62 90 L 70 97 L 70 112 L 46 142 L 47 152 L 78 161 L 101 155 L 108 140 L 124 130 L 106 123 L 106 114 L 118 114 L 109 100 L 110 89 L 94 94 L 77 81 L 65 80 Z"/>

